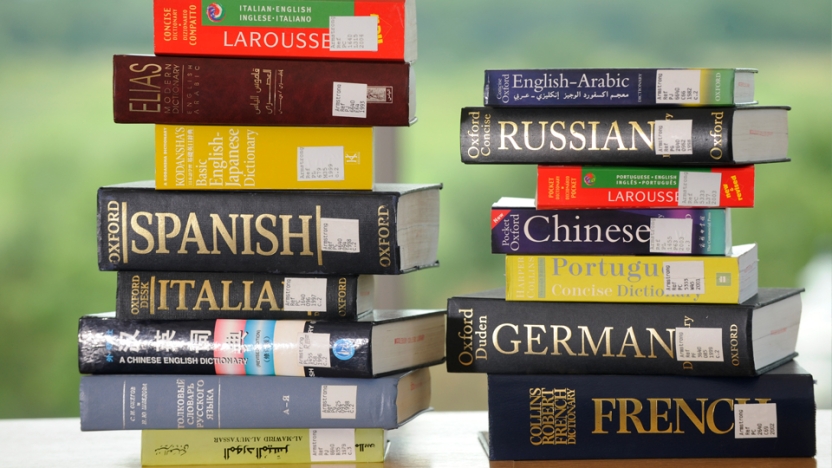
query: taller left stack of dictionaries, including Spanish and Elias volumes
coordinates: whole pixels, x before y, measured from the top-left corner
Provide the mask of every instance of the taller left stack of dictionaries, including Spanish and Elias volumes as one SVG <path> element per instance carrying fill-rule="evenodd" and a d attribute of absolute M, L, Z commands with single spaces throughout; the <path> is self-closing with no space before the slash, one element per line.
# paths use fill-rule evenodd
<path fill-rule="evenodd" d="M 438 266 L 441 185 L 374 181 L 374 127 L 415 121 L 414 2 L 153 8 L 113 94 L 156 180 L 98 192 L 82 430 L 145 430 L 143 465 L 383 461 L 445 357 L 444 311 L 373 308 L 372 275 Z"/>

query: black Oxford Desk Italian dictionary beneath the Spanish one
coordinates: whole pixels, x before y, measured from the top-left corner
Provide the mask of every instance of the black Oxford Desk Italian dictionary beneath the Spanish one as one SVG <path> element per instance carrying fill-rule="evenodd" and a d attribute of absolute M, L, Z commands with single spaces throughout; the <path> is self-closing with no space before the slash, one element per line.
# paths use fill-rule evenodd
<path fill-rule="evenodd" d="M 354 321 L 366 312 L 359 296 L 372 294 L 361 286 L 358 276 L 119 271 L 116 317 Z"/>

